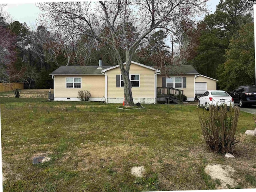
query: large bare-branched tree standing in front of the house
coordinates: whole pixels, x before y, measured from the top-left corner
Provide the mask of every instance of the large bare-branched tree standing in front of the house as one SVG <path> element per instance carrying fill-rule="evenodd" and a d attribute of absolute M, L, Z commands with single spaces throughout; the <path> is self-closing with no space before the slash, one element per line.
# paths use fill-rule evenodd
<path fill-rule="evenodd" d="M 134 52 L 150 34 L 173 30 L 205 11 L 207 0 L 122 0 L 40 3 L 41 21 L 70 36 L 85 35 L 112 49 L 124 80 L 125 105 L 133 105 L 129 70 Z M 134 31 L 135 29 L 135 31 Z M 126 58 L 122 59 L 121 50 Z M 124 65 L 123 63 L 126 62 Z"/>

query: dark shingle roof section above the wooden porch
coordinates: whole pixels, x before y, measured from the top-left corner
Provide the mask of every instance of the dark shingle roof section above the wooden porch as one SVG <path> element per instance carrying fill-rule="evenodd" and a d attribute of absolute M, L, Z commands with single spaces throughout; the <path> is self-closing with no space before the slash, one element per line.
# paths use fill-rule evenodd
<path fill-rule="evenodd" d="M 169 65 L 159 68 L 158 66 L 151 66 L 161 70 L 161 74 L 199 74 L 192 65 Z"/>

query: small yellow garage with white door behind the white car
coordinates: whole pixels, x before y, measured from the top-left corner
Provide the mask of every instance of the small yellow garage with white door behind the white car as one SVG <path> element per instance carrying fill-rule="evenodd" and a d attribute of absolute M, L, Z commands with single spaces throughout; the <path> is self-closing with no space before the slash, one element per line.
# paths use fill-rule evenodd
<path fill-rule="evenodd" d="M 195 97 L 201 96 L 206 90 L 216 90 L 218 80 L 204 76 L 197 75 L 195 77 Z"/>

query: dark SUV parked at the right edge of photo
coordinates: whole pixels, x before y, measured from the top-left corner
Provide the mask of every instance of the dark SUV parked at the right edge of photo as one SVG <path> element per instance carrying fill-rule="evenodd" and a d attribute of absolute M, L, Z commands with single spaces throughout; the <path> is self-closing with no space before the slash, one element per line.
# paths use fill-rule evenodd
<path fill-rule="evenodd" d="M 234 103 L 238 106 L 256 105 L 256 89 L 255 86 L 240 86 L 234 92 L 230 93 L 234 99 Z"/>

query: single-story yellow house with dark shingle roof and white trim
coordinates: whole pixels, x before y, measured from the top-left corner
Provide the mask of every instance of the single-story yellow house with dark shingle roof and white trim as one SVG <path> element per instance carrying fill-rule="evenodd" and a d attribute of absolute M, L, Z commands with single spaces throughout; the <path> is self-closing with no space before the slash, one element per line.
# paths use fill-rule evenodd
<path fill-rule="evenodd" d="M 123 80 L 119 65 L 102 66 L 100 60 L 99 66 L 60 66 L 50 75 L 54 80 L 54 101 L 78 101 L 78 90 L 90 91 L 90 101 L 104 100 L 106 103 L 122 103 L 124 100 Z M 133 85 L 134 103 L 157 103 L 157 87 L 183 90 L 187 100 L 193 101 L 198 75 L 192 65 L 173 65 L 161 71 L 154 66 L 132 61 L 130 80 Z M 208 86 L 209 83 L 206 85 Z"/>

